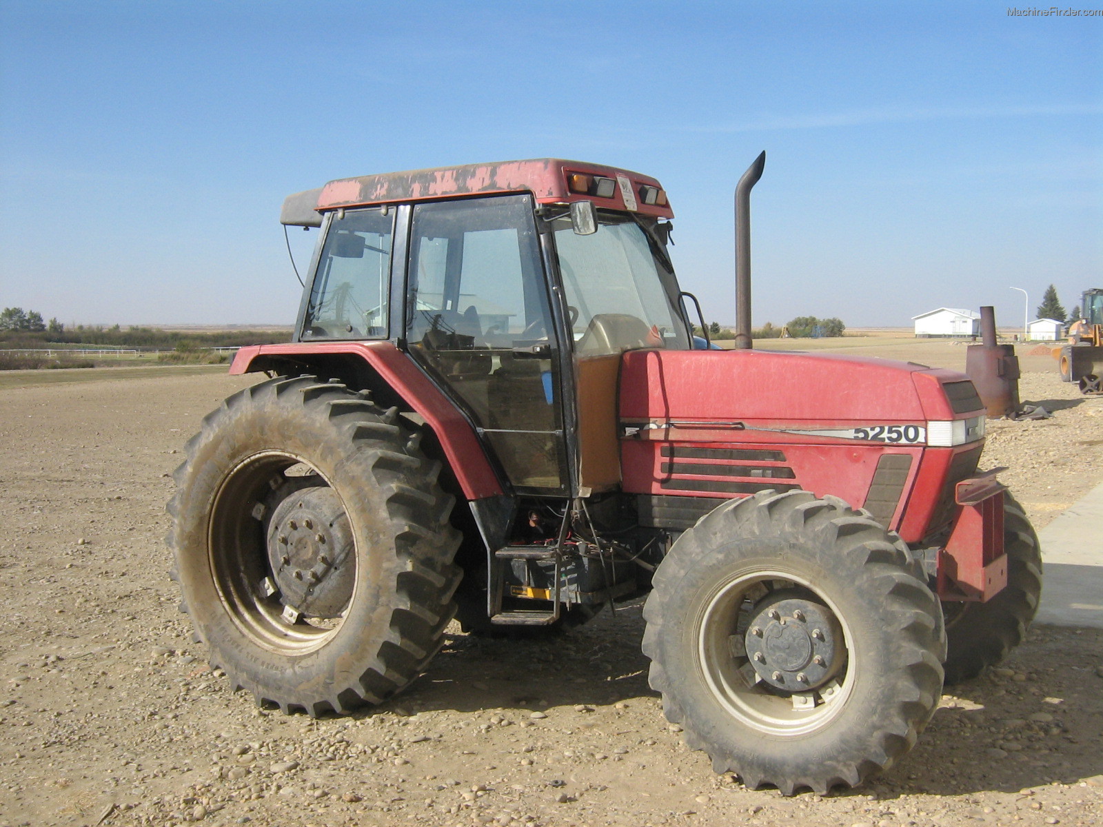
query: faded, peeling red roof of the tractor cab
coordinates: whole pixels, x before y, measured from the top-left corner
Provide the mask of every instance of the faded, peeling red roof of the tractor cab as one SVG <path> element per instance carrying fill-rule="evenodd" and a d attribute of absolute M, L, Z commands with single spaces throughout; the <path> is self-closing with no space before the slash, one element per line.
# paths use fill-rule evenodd
<path fill-rule="evenodd" d="M 609 186 L 592 187 L 600 194 L 578 192 L 579 184 L 570 184 L 572 174 L 611 179 L 617 185 L 611 187 L 612 192 L 608 196 L 606 193 L 609 192 Z M 673 211 L 665 203 L 665 193 L 662 193 L 664 203 L 645 203 L 644 195 L 650 195 L 650 190 L 662 192 L 655 179 L 615 167 L 557 158 L 501 161 L 338 179 L 317 190 L 288 195 L 283 201 L 280 223 L 297 227 L 318 227 L 322 223 L 322 213 L 342 207 L 512 192 L 529 192 L 538 203 L 544 204 L 588 198 L 597 206 L 608 210 L 673 217 Z"/>

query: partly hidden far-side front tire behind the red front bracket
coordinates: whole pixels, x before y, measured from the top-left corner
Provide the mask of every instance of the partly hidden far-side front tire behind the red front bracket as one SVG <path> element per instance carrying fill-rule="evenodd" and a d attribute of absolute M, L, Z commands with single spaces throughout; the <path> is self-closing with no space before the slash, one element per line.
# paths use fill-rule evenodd
<path fill-rule="evenodd" d="M 1004 552 L 1007 588 L 987 603 L 946 601 L 947 684 L 979 675 L 1018 646 L 1041 600 L 1041 550 L 1022 506 L 1004 493 Z"/>

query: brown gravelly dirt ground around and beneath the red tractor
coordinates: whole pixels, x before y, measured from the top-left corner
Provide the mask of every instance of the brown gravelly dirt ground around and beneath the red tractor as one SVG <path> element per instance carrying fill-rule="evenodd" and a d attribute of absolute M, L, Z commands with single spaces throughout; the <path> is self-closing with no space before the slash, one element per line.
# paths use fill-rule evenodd
<path fill-rule="evenodd" d="M 842 343 L 964 364 L 944 342 Z M 1103 482 L 1103 398 L 1035 358 L 1022 397 L 1054 416 L 990 423 L 983 464 L 1010 466 L 1041 526 Z M 0 826 L 1103 824 L 1092 630 L 1036 627 L 890 774 L 824 797 L 745 790 L 685 748 L 647 687 L 639 605 L 554 642 L 456 631 L 353 718 L 258 709 L 191 643 L 162 541 L 184 441 L 255 377 L 142 370 L 0 377 Z"/>

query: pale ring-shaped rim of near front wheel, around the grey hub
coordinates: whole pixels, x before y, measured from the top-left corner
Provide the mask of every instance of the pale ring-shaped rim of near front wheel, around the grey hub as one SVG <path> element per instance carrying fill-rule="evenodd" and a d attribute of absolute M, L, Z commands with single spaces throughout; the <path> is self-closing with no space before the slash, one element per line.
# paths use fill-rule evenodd
<path fill-rule="evenodd" d="M 829 609 L 844 651 L 837 655 L 840 666 L 829 679 L 812 689 L 785 691 L 757 675 L 740 641 L 756 601 L 770 592 L 794 589 Z M 760 570 L 729 578 L 705 601 L 694 633 L 697 666 L 713 698 L 729 716 L 762 734 L 785 738 L 820 730 L 840 713 L 854 691 L 860 664 L 854 656 L 853 632 L 834 602 L 794 572 Z"/>

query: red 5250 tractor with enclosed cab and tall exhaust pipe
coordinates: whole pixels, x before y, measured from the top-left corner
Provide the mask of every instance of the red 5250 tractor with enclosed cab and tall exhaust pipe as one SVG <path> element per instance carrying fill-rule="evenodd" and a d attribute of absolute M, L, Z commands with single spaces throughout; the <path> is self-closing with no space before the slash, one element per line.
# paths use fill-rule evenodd
<path fill-rule="evenodd" d="M 206 417 L 169 505 L 235 688 L 346 713 L 414 680 L 453 617 L 558 626 L 650 591 L 651 685 L 688 744 L 823 793 L 1021 641 L 1038 541 L 977 472 L 970 380 L 750 350 L 746 279 L 739 346 L 710 347 L 672 216 L 654 179 L 561 160 L 287 198 L 285 225 L 321 228 L 293 341 L 237 354 L 269 378 Z"/>

